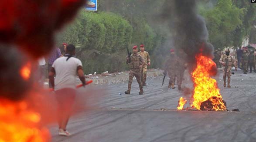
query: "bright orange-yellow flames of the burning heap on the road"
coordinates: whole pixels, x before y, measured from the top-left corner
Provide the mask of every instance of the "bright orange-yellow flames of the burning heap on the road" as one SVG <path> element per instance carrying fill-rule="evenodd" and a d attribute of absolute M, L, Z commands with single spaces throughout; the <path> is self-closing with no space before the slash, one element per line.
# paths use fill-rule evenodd
<path fill-rule="evenodd" d="M 196 56 L 196 60 L 197 67 L 192 73 L 195 89 L 191 107 L 200 109 L 201 103 L 211 98 L 210 101 L 214 110 L 226 110 L 224 103 L 221 101 L 222 96 L 219 92 L 217 81 L 210 77 L 210 73 L 212 69 L 216 68 L 216 64 L 212 59 L 202 56 L 202 54 Z M 213 100 L 212 97 L 217 97 L 218 99 Z"/>

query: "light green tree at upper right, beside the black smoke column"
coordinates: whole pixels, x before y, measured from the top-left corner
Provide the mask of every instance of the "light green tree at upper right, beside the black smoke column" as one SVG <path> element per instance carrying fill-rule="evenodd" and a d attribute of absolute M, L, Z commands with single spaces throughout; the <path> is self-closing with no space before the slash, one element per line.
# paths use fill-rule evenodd
<path fill-rule="evenodd" d="M 223 49 L 227 46 L 233 46 L 234 42 L 238 41 L 235 39 L 242 33 L 236 29 L 242 25 L 243 8 L 236 7 L 232 0 L 218 0 L 212 10 L 201 11 L 201 14 L 205 17 L 209 41 L 213 46 Z M 241 37 L 237 43 L 242 43 Z"/>

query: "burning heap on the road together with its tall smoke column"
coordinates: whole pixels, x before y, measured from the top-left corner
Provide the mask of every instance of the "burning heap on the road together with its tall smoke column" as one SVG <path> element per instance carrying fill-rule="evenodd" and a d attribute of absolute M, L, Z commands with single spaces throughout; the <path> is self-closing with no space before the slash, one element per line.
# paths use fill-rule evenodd
<path fill-rule="evenodd" d="M 197 13 L 196 4 L 196 0 L 168 1 L 162 16 L 170 20 L 174 47 L 187 55 L 187 69 L 194 83 L 190 109 L 225 111 L 225 101 L 217 81 L 212 78 L 217 73 L 216 64 L 212 61 L 214 48 L 207 42 L 208 30 L 205 20 Z M 180 98 L 177 109 L 182 110 L 185 103 L 185 99 Z"/>

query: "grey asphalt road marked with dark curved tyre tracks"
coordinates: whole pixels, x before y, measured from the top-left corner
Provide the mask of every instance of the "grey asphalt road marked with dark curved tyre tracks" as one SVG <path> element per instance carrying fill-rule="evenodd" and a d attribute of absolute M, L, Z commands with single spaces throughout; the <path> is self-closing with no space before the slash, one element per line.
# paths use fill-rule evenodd
<path fill-rule="evenodd" d="M 235 73 L 232 88 L 223 87 L 222 74 L 216 79 L 227 109 L 240 112 L 175 110 L 179 97 L 191 96 L 189 77 L 184 80 L 183 88 L 188 88 L 183 92 L 167 89 L 168 79 L 163 87 L 162 77 L 147 79 L 144 95 L 138 95 L 133 80 L 131 95 L 123 93 L 127 83 L 98 86 L 108 90 L 96 104 L 99 109 L 73 116 L 68 124 L 72 136 L 59 136 L 58 127 L 52 126 L 52 141 L 256 142 L 256 74 Z"/>

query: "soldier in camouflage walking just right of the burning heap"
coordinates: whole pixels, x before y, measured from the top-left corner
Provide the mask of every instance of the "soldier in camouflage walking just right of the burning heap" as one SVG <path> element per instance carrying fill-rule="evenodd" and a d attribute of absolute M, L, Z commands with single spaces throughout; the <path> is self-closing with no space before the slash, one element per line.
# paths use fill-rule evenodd
<path fill-rule="evenodd" d="M 227 48 L 225 50 L 225 54 L 223 54 L 221 56 L 221 58 L 219 59 L 219 63 L 221 63 L 223 65 L 223 86 L 226 86 L 226 77 L 228 76 L 228 87 L 230 87 L 230 77 L 231 77 L 231 68 L 232 66 L 235 66 L 236 70 L 237 70 L 237 66 L 234 64 L 234 61 L 232 59 L 232 57 L 229 55 L 230 50 L 229 48 Z"/>

